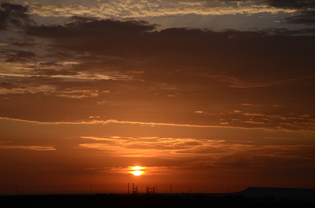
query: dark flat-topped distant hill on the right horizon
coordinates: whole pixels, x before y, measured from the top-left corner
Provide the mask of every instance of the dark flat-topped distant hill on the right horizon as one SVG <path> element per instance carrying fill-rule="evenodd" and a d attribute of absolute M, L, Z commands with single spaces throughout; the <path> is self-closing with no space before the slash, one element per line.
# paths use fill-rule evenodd
<path fill-rule="evenodd" d="M 248 187 L 243 191 L 231 193 L 231 195 L 256 198 L 268 196 L 287 200 L 315 200 L 315 189 Z"/>

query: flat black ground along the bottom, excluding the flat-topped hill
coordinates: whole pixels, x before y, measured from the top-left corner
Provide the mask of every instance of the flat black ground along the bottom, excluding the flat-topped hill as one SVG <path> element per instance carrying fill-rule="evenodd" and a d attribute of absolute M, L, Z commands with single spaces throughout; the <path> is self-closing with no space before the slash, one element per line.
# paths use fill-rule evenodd
<path fill-rule="evenodd" d="M 32 207 L 32 208 L 167 208 L 167 207 L 314 207 L 312 200 L 274 200 L 263 198 L 246 198 L 242 195 L 209 196 L 204 194 L 192 197 L 173 196 L 121 196 L 115 194 L 97 195 L 29 195 L 29 196 L 0 196 L 1 207 Z"/>

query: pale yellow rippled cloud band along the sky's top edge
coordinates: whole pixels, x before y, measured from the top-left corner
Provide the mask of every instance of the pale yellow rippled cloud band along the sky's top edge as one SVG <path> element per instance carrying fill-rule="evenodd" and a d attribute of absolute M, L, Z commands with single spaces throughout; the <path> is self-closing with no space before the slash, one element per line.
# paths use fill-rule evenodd
<path fill-rule="evenodd" d="M 294 7 L 283 7 L 282 5 L 270 6 L 271 2 L 262 1 L 109 1 L 97 4 L 28 4 L 34 13 L 48 16 L 88 16 L 100 18 L 146 18 L 161 16 L 177 16 L 185 14 L 198 15 L 226 15 L 226 14 L 256 14 L 262 12 L 278 13 L 292 12 Z M 273 2 L 272 2 L 273 3 Z M 78 20 L 81 20 L 77 18 Z"/>

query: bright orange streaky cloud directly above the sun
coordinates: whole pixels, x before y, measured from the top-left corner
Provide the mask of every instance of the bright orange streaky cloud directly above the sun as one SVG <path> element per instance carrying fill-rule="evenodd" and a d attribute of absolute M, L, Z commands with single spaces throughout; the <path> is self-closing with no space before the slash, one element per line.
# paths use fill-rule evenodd
<path fill-rule="evenodd" d="M 172 154 L 181 157 L 181 154 L 212 154 L 220 152 L 223 140 L 205 140 L 192 138 L 160 138 L 160 137 L 82 137 L 102 141 L 103 143 L 79 144 L 86 148 L 111 151 L 115 156 L 142 156 L 159 155 L 165 157 Z M 216 148 L 213 146 L 217 146 Z"/>

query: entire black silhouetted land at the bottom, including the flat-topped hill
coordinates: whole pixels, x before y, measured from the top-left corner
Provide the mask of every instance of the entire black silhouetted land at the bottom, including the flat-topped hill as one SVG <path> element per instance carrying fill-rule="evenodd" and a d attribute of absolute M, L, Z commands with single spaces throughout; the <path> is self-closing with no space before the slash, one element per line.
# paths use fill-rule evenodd
<path fill-rule="evenodd" d="M 280 194 L 280 195 L 279 195 Z M 281 197 L 281 198 L 280 198 Z M 313 207 L 315 189 L 249 187 L 230 194 L 0 196 L 6 207 Z"/>

